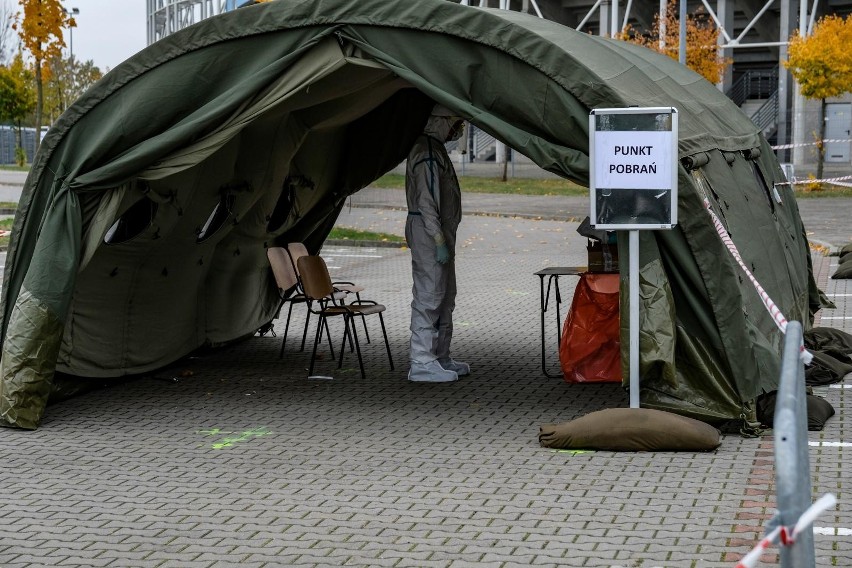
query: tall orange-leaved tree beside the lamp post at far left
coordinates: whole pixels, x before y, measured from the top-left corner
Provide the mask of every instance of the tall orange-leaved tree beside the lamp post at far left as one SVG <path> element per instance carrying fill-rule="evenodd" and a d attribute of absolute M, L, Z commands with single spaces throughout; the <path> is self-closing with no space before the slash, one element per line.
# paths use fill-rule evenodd
<path fill-rule="evenodd" d="M 36 151 L 41 136 L 41 117 L 44 106 L 44 80 L 48 73 L 45 63 L 52 57 L 61 57 L 65 41 L 62 29 L 77 23 L 59 0 L 18 0 L 22 12 L 17 14 L 14 28 L 21 43 L 35 60 L 33 69 L 36 83 Z"/>

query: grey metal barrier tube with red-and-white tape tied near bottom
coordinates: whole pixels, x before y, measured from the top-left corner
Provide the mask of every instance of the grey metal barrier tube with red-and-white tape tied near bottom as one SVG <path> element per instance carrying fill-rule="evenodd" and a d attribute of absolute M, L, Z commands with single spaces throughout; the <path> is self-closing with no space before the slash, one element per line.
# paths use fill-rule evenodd
<path fill-rule="evenodd" d="M 808 459 L 808 413 L 805 367 L 800 358 L 802 324 L 787 323 L 781 381 L 775 403 L 775 473 L 778 516 L 784 527 L 794 526 L 811 505 Z M 794 542 L 780 547 L 782 568 L 814 568 L 814 533 L 809 524 Z"/>

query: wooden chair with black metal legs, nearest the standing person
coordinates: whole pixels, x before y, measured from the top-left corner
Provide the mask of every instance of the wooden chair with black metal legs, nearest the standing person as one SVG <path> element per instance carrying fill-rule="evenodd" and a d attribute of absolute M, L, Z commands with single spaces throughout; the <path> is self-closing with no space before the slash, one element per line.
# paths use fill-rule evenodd
<path fill-rule="evenodd" d="M 344 322 L 343 342 L 340 347 L 340 359 L 337 363 L 338 369 L 343 366 L 343 354 L 346 351 L 346 341 L 349 339 L 352 344 L 354 344 L 355 351 L 358 353 L 358 366 L 361 369 L 361 378 L 366 377 L 366 373 L 364 372 L 364 361 L 361 357 L 361 345 L 358 341 L 358 333 L 355 331 L 355 324 L 352 322 L 352 319 L 356 316 L 360 316 L 364 319 L 366 325 L 366 316 L 378 314 L 379 322 L 382 326 L 382 336 L 385 339 L 385 349 L 388 352 L 388 361 L 390 363 L 391 370 L 393 370 L 393 357 L 390 352 L 390 343 L 388 342 L 385 320 L 382 316 L 382 312 L 385 311 L 385 307 L 370 300 L 356 300 L 351 304 L 344 304 L 343 302 L 335 299 L 332 295 L 334 292 L 334 285 L 331 282 L 331 276 L 328 274 L 328 267 L 325 264 L 325 260 L 323 260 L 320 256 L 302 256 L 299 258 L 297 265 L 299 273 L 301 274 L 305 297 L 313 300 L 314 302 L 312 306 L 315 307 L 312 307 L 311 311 L 319 316 L 317 331 L 314 336 L 314 348 L 311 354 L 311 364 L 308 368 L 308 376 L 311 376 L 314 372 L 314 360 L 316 359 L 317 344 L 319 343 L 323 325 L 325 325 L 326 331 L 328 331 L 328 323 L 326 322 L 326 319 L 334 316 L 343 316 Z M 350 323 L 352 323 L 352 325 L 350 325 Z"/>

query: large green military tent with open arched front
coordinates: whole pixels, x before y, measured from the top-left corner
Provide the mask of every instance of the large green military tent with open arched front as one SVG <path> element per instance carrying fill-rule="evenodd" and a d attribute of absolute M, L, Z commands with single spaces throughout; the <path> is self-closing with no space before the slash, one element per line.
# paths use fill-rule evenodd
<path fill-rule="evenodd" d="M 582 184 L 591 109 L 676 107 L 680 224 L 640 243 L 642 404 L 753 417 L 781 333 L 704 199 L 789 319 L 809 325 L 818 291 L 796 201 L 731 101 L 669 58 L 525 14 L 311 0 L 157 42 L 47 134 L 3 279 L 0 422 L 37 427 L 57 371 L 143 373 L 269 322 L 265 247 L 317 250 L 345 198 L 404 158 L 433 101 Z"/>

